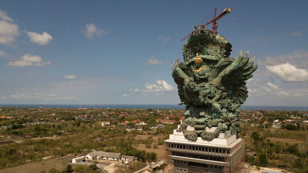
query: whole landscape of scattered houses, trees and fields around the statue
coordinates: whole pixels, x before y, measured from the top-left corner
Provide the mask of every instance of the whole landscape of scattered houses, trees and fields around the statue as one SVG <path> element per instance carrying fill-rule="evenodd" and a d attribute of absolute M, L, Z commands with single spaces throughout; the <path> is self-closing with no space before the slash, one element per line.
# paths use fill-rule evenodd
<path fill-rule="evenodd" d="M 290 167 L 282 159 L 285 155 L 296 157 L 294 168 L 304 168 L 302 164 L 308 163 L 307 113 L 241 111 L 240 136 L 246 143 L 246 161 L 257 167 Z M 93 171 L 164 169 L 163 141 L 185 119 L 184 110 L 175 109 L 5 107 L 0 114 L 0 145 L 5 146 L 0 152 L 6 153 L 0 172 L 36 162 L 52 163 L 53 159 L 61 160 L 60 166 L 52 167 L 59 171 L 68 165 L 76 171 L 93 164 Z M 267 151 L 262 143 L 268 145 Z M 264 165 L 260 159 L 266 152 Z"/>

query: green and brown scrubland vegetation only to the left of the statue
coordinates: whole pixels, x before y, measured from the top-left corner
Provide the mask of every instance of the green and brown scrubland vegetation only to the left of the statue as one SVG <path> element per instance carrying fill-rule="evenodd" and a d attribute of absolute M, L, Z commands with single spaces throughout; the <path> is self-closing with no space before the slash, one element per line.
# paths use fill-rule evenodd
<path fill-rule="evenodd" d="M 130 116 L 111 115 L 111 111 L 116 113 L 123 111 Z M 2 115 L 11 118 L 0 119 L 0 127 L 8 126 L 2 128 L 0 135 L 3 137 L 0 138 L 8 140 L 7 137 L 13 134 L 14 136 L 10 139 L 20 143 L 9 143 L 0 147 L 0 169 L 38 161 L 48 156 L 86 154 L 93 149 L 133 155 L 143 162 L 155 161 L 157 159 L 155 152 L 139 150 L 138 145 L 144 144 L 148 148 L 157 148 L 158 144 L 163 144 L 168 135 L 159 140 L 151 136 L 170 134 L 176 128 L 176 124 L 167 124 L 165 128 L 154 131 L 149 127 L 159 124 L 155 122 L 155 119 L 163 119 L 164 115 L 170 115 L 170 112 L 162 110 L 161 115 L 157 115 L 156 112 L 149 113 L 148 111 L 146 109 L 114 109 L 108 112 L 106 109 L 78 111 L 77 109 L 3 108 L 1 113 L 4 114 Z M 180 116 L 183 114 L 183 110 L 173 112 Z M 142 128 L 142 131 L 126 131 L 126 128 L 136 126 L 135 123 L 128 123 L 127 126 L 119 125 L 121 122 L 138 119 L 148 124 L 138 126 Z M 111 125 L 102 127 L 102 121 L 109 121 Z M 53 135 L 59 135 L 59 137 L 52 137 Z M 148 136 L 148 138 L 137 138 L 137 135 Z M 95 140 L 96 138 L 99 140 Z M 88 168 L 80 167 L 79 169 L 79 172 L 83 172 Z"/>

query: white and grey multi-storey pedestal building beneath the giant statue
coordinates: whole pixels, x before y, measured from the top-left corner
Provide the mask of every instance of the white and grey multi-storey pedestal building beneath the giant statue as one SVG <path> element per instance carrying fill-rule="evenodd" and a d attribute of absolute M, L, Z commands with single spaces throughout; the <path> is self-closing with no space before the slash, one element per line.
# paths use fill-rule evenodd
<path fill-rule="evenodd" d="M 206 127 L 206 131 L 214 132 L 216 128 Z M 187 130 L 193 131 L 194 127 L 188 126 Z M 164 144 L 169 167 L 174 165 L 169 173 L 250 173 L 250 164 L 243 163 L 243 140 L 231 135 L 230 131 L 220 133 L 212 141 L 201 137 L 191 141 L 185 138 L 183 132 L 174 130 Z"/>

